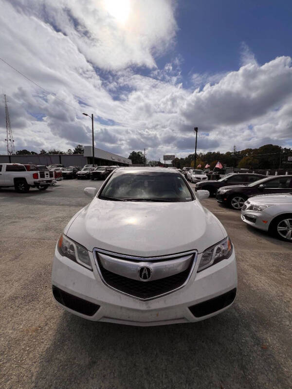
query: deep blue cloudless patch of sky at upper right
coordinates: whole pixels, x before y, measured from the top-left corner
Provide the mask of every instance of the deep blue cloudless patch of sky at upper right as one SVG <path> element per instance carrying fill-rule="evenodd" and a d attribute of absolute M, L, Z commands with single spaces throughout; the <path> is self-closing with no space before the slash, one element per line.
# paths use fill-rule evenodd
<path fill-rule="evenodd" d="M 237 70 L 242 42 L 260 64 L 292 54 L 292 1 L 188 0 L 176 14 L 185 75 Z"/>

